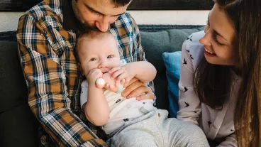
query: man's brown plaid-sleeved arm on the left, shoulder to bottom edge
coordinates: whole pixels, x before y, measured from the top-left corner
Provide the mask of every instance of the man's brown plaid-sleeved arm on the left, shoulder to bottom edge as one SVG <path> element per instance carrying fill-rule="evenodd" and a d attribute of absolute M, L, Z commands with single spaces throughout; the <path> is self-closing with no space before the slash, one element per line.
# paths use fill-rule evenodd
<path fill-rule="evenodd" d="M 19 20 L 18 49 L 30 109 L 59 146 L 106 146 L 72 113 L 66 75 L 48 33 L 28 14 Z"/>

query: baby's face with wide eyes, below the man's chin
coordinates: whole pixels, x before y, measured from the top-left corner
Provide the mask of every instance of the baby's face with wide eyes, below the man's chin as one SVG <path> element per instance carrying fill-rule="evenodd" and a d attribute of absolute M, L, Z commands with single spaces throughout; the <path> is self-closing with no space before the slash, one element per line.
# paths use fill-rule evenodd
<path fill-rule="evenodd" d="M 99 68 L 106 73 L 113 67 L 120 65 L 118 46 L 113 36 L 100 40 L 82 40 L 79 43 L 79 62 L 82 75 L 87 76 L 90 70 Z"/>

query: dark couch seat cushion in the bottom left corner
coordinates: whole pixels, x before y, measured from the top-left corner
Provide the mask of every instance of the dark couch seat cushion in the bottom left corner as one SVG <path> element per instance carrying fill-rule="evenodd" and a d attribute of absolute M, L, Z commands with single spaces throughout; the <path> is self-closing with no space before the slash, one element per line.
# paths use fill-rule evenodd
<path fill-rule="evenodd" d="M 39 123 L 27 103 L 0 113 L 0 146 L 38 146 Z"/>

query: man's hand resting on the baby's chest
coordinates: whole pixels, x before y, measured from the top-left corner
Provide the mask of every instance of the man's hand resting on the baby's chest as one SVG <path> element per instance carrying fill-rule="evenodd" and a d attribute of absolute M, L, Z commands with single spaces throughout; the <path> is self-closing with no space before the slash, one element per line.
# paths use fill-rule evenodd
<path fill-rule="evenodd" d="M 130 97 L 136 97 L 137 100 L 155 99 L 152 89 L 145 83 L 140 82 L 136 77 L 130 80 L 126 89 L 121 92 L 121 95 L 127 99 Z"/>

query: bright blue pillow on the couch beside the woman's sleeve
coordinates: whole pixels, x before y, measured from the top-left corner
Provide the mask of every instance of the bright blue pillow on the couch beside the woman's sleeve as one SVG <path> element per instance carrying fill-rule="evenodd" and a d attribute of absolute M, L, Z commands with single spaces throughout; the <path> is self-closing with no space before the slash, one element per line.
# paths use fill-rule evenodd
<path fill-rule="evenodd" d="M 165 63 L 168 82 L 168 95 L 170 102 L 170 117 L 176 117 L 179 111 L 179 74 L 180 74 L 180 61 L 181 51 L 173 53 L 163 53 L 162 58 Z"/>

